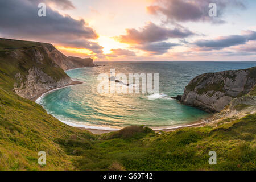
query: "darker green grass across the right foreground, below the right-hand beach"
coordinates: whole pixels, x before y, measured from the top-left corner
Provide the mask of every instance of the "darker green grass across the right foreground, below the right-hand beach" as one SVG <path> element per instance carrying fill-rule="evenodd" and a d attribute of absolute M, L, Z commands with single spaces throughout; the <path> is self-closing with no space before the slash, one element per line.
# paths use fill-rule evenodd
<path fill-rule="evenodd" d="M 203 127 L 148 133 L 141 139 L 114 138 L 80 151 L 80 169 L 109 169 L 113 161 L 127 170 L 255 170 L 255 121 L 248 115 L 216 129 Z M 217 152 L 217 165 L 208 163 Z"/>

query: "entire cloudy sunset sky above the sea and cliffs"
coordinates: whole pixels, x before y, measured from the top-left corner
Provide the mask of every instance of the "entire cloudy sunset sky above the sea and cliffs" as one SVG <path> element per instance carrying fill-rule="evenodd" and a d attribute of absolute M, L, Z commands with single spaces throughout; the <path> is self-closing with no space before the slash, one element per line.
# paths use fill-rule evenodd
<path fill-rule="evenodd" d="M 1 38 L 94 61 L 256 61 L 255 0 L 1 0 L 0 17 Z"/>

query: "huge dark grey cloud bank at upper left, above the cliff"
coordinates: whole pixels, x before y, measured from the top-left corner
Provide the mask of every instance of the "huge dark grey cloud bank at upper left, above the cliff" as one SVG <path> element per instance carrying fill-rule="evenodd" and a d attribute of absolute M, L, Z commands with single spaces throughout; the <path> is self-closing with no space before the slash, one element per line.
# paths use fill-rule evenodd
<path fill-rule="evenodd" d="M 46 17 L 38 16 L 38 4 L 47 4 Z M 97 43 L 90 40 L 98 35 L 83 20 L 61 15 L 48 3 L 59 3 L 64 9 L 73 7 L 68 0 L 3 0 L 0 1 L 0 33 L 6 38 L 29 39 L 65 46 L 82 47 L 101 52 Z"/>

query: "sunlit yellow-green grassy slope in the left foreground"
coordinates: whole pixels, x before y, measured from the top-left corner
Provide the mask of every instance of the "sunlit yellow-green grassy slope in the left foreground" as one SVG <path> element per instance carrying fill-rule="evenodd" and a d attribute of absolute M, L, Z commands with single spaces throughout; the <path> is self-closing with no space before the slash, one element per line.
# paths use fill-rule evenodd
<path fill-rule="evenodd" d="M 83 135 L 46 113 L 42 106 L 0 89 L 0 169 L 73 169 L 72 157 L 56 138 Z M 88 134 L 88 136 L 86 135 Z M 38 152 L 46 151 L 47 165 L 38 165 Z"/>

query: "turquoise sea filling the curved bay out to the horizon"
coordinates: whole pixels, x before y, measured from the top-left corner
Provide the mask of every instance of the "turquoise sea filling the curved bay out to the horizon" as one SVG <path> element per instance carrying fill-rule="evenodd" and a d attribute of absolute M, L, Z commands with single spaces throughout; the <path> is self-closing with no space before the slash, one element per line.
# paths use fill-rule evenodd
<path fill-rule="evenodd" d="M 44 94 L 37 101 L 48 113 L 73 126 L 119 129 L 130 125 L 166 127 L 189 124 L 209 114 L 185 106 L 170 97 L 183 94 L 192 78 L 205 72 L 244 69 L 256 62 L 101 62 L 105 67 L 67 71 L 73 80 L 84 82 Z M 161 94 L 101 94 L 100 73 L 159 73 Z"/>

